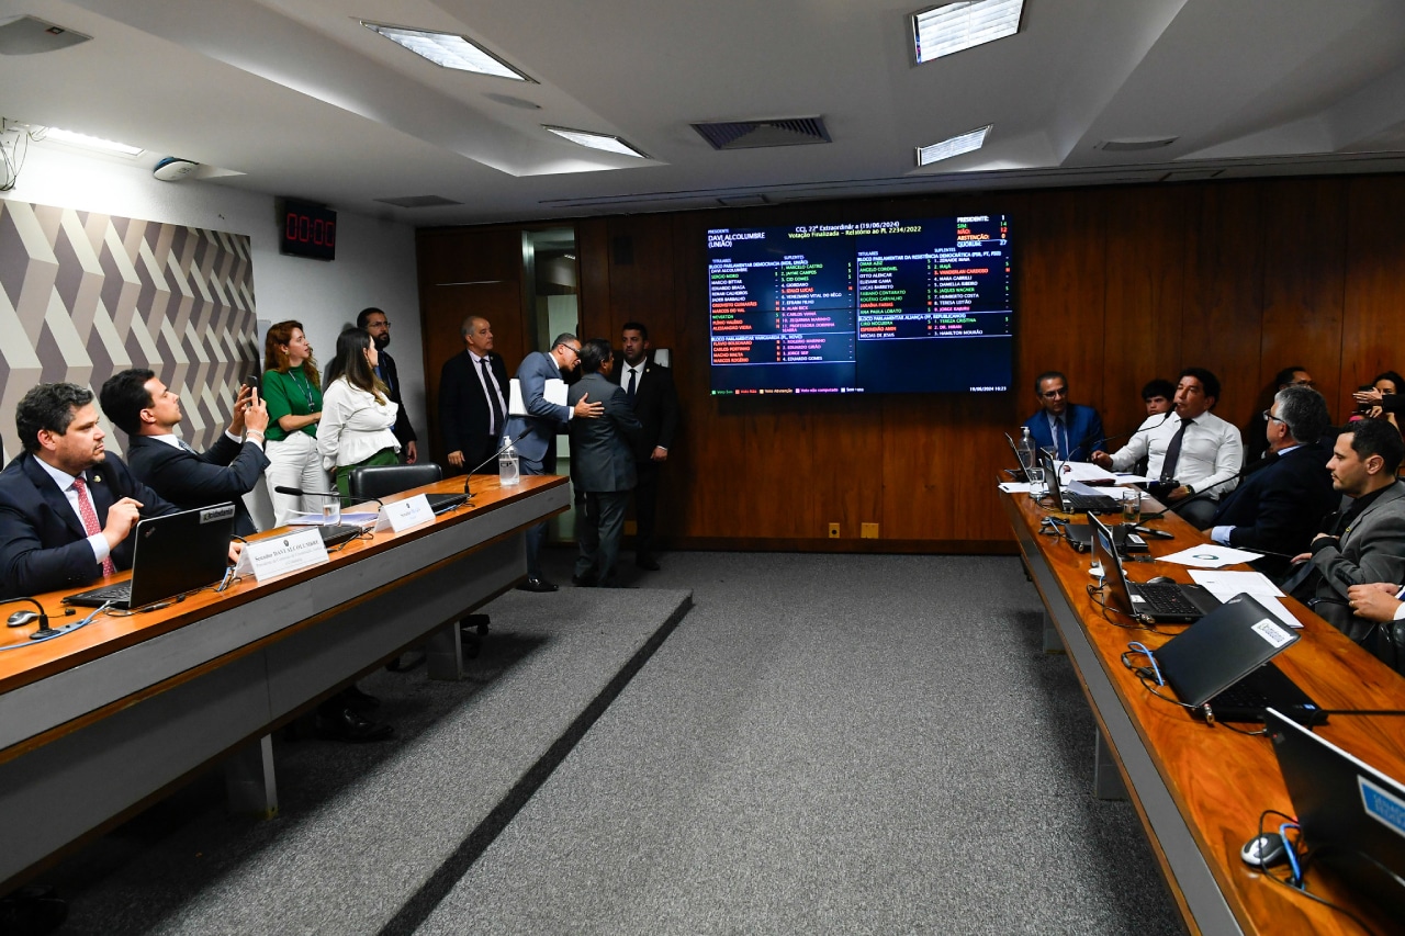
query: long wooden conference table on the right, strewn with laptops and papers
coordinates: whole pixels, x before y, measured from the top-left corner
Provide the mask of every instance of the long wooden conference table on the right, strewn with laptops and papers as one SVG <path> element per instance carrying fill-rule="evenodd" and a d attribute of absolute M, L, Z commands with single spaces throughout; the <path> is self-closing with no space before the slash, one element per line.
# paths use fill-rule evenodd
<path fill-rule="evenodd" d="M 1125 788 L 1190 932 L 1360 933 L 1343 914 L 1264 880 L 1239 859 L 1239 849 L 1257 833 L 1263 810 L 1293 815 L 1269 739 L 1193 720 L 1179 706 L 1148 693 L 1123 665 L 1128 641 L 1155 651 L 1184 625 L 1163 624 L 1152 632 L 1109 623 L 1086 590 L 1093 582 L 1090 557 L 1061 538 L 1040 535 L 1044 517 L 1051 514 L 1028 495 L 1002 493 L 1000 500 L 1044 600 L 1047 624 L 1057 628 L 1097 721 L 1097 793 L 1111 795 Z M 1207 541 L 1175 514 L 1149 526 L 1176 534 L 1175 540 L 1149 538 L 1154 555 Z M 1169 562 L 1128 564 L 1127 573 L 1138 582 L 1156 575 L 1191 580 L 1186 566 Z M 1302 639 L 1274 662 L 1319 706 L 1405 710 L 1405 679 L 1302 604 L 1293 599 L 1284 603 L 1302 623 Z M 1405 718 L 1333 715 L 1316 731 L 1378 770 L 1405 777 Z M 1277 822 L 1281 819 L 1273 829 Z M 1281 877 L 1283 869 L 1277 873 Z M 1401 921 L 1384 918 L 1319 869 L 1309 871 L 1307 881 L 1311 892 L 1352 908 L 1375 932 L 1401 932 Z"/>

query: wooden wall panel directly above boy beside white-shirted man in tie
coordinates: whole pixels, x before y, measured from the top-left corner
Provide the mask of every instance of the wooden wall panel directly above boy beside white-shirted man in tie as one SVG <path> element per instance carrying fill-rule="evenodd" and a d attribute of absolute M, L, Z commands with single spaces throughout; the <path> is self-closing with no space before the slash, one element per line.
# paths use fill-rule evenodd
<path fill-rule="evenodd" d="M 1176 382 L 1182 367 L 1187 191 L 1114 188 L 1103 195 L 1106 316 L 1103 394 L 1096 403 L 1113 450 L 1146 417 L 1141 389 L 1158 377 Z"/>

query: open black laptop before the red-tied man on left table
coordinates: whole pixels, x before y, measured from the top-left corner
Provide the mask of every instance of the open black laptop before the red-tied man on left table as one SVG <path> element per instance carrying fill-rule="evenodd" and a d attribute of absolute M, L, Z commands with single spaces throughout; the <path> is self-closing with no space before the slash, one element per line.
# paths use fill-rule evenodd
<path fill-rule="evenodd" d="M 150 517 L 132 530 L 132 578 L 126 582 L 70 594 L 66 604 L 138 609 L 218 585 L 229 565 L 235 534 L 235 505 L 221 503 Z"/>

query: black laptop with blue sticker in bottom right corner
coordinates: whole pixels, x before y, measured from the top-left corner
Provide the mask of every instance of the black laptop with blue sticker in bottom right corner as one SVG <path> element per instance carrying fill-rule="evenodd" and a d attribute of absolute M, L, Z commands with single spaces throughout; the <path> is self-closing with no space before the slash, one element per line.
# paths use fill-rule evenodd
<path fill-rule="evenodd" d="M 1312 866 L 1405 919 L 1405 784 L 1281 711 L 1269 710 L 1267 727 Z"/>

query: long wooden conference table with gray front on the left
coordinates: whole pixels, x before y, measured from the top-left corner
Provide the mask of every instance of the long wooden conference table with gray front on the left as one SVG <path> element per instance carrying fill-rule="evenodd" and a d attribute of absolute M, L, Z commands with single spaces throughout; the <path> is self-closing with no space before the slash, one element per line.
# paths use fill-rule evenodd
<path fill-rule="evenodd" d="M 0 892 L 216 759 L 237 807 L 275 812 L 268 732 L 426 637 L 430 675 L 458 677 L 458 620 L 527 575 L 525 530 L 570 505 L 558 476 L 475 476 L 472 492 L 325 565 L 0 651 Z M 63 594 L 37 596 L 53 627 L 79 620 Z"/>

